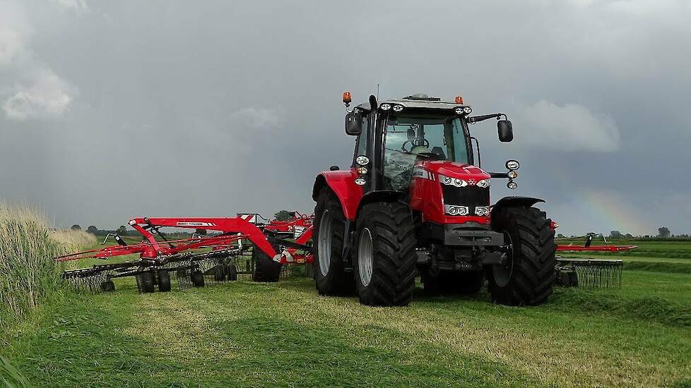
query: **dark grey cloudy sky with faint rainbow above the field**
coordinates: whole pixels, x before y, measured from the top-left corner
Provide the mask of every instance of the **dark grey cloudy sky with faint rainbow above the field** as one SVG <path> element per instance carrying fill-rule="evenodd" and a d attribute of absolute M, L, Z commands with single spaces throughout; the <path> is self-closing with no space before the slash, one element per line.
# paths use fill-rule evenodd
<path fill-rule="evenodd" d="M 341 92 L 463 95 L 565 234 L 691 232 L 687 1 L 0 0 L 0 198 L 58 226 L 311 212 Z M 507 195 L 500 183 L 493 197 Z"/>

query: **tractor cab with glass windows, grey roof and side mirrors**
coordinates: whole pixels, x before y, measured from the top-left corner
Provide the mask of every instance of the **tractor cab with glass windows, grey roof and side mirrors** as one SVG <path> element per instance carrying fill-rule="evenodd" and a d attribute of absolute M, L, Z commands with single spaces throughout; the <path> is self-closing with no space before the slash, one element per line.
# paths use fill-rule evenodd
<path fill-rule="evenodd" d="M 344 102 L 349 98 L 348 94 Z M 462 97 L 456 97 L 455 102 L 442 102 L 438 97 L 423 94 L 391 99 L 378 105 L 372 102 L 360 104 L 348 111 L 346 133 L 358 136 L 353 168 L 362 174 L 358 174 L 360 179 L 357 183 L 365 192 L 394 190 L 408 193 L 415 166 L 449 166 L 454 169 L 475 164 L 468 123 L 480 121 L 478 117 L 483 120 L 500 119 L 505 115 L 471 117 L 471 112 L 471 107 L 463 104 Z M 500 135 L 502 128 L 504 131 L 504 138 L 500 140 L 507 141 L 513 137 L 510 121 L 500 120 L 498 125 Z M 359 164 L 358 160 L 367 161 L 367 165 Z M 418 172 L 423 170 L 424 167 Z"/>

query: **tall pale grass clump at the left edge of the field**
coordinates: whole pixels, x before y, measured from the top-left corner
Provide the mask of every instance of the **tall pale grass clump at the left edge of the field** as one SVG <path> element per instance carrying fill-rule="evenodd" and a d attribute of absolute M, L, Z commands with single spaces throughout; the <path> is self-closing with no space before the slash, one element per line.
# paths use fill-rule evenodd
<path fill-rule="evenodd" d="M 0 202 L 0 327 L 25 317 L 59 289 L 61 265 L 53 257 L 88 245 L 94 239 L 89 236 L 53 231 L 28 205 Z"/>

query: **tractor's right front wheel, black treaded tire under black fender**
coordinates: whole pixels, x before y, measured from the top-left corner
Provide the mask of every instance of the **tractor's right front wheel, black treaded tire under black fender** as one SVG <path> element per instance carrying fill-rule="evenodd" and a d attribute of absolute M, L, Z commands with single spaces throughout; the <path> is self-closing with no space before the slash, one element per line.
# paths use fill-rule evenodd
<path fill-rule="evenodd" d="M 554 230 L 536 207 L 504 207 L 492 212 L 492 228 L 510 244 L 506 262 L 488 274 L 492 301 L 502 305 L 539 305 L 555 281 Z"/>

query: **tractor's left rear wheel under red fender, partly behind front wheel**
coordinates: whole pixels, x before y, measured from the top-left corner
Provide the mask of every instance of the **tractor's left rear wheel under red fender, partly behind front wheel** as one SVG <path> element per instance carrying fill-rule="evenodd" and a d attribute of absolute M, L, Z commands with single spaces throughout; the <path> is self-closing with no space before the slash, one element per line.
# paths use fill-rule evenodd
<path fill-rule="evenodd" d="M 319 192 L 317 206 L 314 207 L 313 225 L 312 270 L 317 291 L 320 295 L 353 295 L 355 281 L 352 272 L 346 272 L 346 263 L 343 260 L 346 217 L 343 216 L 341 202 L 328 187 L 322 188 Z M 320 248 L 324 252 L 321 252 Z"/>

